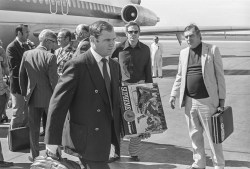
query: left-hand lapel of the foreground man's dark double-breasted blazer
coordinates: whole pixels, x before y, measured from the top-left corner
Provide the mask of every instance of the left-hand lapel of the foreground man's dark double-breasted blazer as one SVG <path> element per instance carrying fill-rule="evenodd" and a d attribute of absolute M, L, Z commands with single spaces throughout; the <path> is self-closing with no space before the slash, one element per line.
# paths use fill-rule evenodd
<path fill-rule="evenodd" d="M 101 97 L 103 98 L 104 102 L 109 105 L 109 98 L 108 98 L 108 94 L 106 91 L 106 87 L 105 87 L 105 82 L 104 79 L 102 77 L 102 74 L 100 72 L 100 69 L 96 63 L 96 60 L 94 58 L 94 56 L 92 55 L 91 51 L 88 50 L 86 52 L 86 63 L 87 63 L 87 67 L 89 70 L 89 74 L 91 76 L 91 79 L 94 83 L 94 86 L 96 87 L 96 89 L 99 91 Z"/>

